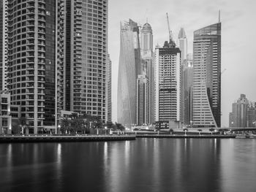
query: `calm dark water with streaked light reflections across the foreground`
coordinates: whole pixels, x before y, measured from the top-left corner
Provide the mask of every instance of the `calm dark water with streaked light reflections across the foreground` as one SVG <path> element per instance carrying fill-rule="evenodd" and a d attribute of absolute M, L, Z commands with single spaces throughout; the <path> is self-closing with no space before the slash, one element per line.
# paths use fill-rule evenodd
<path fill-rule="evenodd" d="M 0 144 L 0 191 L 256 191 L 256 139 Z"/>

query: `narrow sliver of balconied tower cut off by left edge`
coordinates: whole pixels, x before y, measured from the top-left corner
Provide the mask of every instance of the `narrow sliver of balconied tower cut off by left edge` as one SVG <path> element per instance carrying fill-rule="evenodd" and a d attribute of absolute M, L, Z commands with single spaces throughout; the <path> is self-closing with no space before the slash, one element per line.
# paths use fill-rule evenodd
<path fill-rule="evenodd" d="M 7 0 L 0 2 L 0 91 L 7 90 Z"/>

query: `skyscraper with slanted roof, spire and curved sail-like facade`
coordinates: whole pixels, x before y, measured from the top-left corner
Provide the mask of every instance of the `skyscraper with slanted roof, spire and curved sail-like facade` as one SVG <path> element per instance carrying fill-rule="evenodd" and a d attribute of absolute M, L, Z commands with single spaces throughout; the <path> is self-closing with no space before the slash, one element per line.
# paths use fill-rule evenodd
<path fill-rule="evenodd" d="M 193 127 L 220 127 L 220 22 L 194 31 L 193 56 Z"/>

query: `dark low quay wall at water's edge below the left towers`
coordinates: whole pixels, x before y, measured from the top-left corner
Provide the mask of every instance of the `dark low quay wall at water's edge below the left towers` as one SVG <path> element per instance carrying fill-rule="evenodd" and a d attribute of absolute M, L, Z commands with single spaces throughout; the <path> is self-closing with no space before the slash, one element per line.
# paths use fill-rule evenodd
<path fill-rule="evenodd" d="M 88 135 L 88 136 L 1 136 L 0 142 L 108 142 L 135 140 L 130 135 Z"/>

